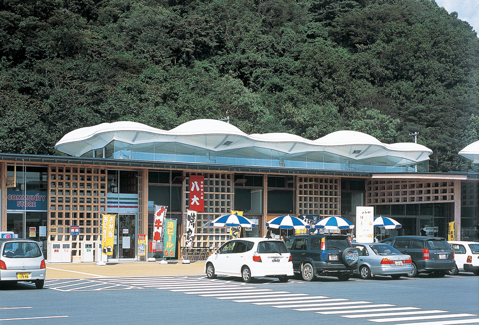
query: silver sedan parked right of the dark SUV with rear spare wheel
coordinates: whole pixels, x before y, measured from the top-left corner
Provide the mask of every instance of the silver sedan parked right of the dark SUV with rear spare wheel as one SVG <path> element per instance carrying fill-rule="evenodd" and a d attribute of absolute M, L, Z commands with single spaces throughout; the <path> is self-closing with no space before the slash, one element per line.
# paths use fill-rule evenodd
<path fill-rule="evenodd" d="M 359 267 L 356 272 L 362 279 L 377 275 L 399 279 L 413 270 L 411 256 L 402 254 L 391 245 L 352 243 L 352 246 L 358 250 Z"/>

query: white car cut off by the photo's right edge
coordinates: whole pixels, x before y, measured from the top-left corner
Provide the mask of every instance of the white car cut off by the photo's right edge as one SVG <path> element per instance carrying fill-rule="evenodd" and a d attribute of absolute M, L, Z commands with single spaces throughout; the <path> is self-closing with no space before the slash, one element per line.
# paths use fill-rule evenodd
<path fill-rule="evenodd" d="M 450 275 L 456 275 L 459 271 L 473 272 L 479 276 L 479 243 L 448 241 L 454 249 L 454 260 L 456 266 L 448 271 Z"/>

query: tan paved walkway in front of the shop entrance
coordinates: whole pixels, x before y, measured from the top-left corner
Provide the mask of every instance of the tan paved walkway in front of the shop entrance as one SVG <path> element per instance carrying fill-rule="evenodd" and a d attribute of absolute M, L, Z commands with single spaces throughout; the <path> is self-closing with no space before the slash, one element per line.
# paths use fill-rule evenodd
<path fill-rule="evenodd" d="M 173 264 L 174 263 L 174 264 Z M 204 275 L 205 262 L 109 262 L 97 263 L 47 263 L 46 279 L 76 279 L 98 277 L 141 277 L 161 275 Z"/>

